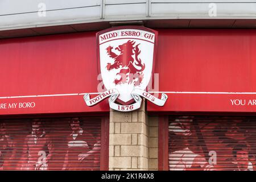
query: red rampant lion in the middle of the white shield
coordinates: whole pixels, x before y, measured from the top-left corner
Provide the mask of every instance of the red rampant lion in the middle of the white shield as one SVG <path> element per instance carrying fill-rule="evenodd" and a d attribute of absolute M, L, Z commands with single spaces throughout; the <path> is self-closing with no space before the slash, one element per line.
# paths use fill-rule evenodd
<path fill-rule="evenodd" d="M 106 51 L 109 57 L 114 59 L 114 63 L 108 63 L 106 68 L 110 71 L 112 69 L 122 68 L 117 76 L 121 76 L 119 79 L 115 79 L 114 83 L 117 84 L 131 84 L 134 81 L 134 85 L 137 86 L 143 80 L 143 74 L 141 73 L 145 69 L 145 64 L 142 64 L 141 59 L 138 58 L 141 51 L 139 50 L 139 44 L 134 47 L 136 42 L 128 40 L 126 43 L 119 45 L 115 50 L 119 51 L 119 55 L 112 52 L 113 47 L 109 46 Z M 134 60 L 134 57 L 135 60 Z M 135 65 L 137 67 L 135 67 Z"/>

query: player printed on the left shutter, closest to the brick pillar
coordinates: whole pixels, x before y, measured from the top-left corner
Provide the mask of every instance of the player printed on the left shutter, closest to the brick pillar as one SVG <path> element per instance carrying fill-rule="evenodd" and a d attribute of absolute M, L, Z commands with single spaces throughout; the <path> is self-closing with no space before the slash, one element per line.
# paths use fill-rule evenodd
<path fill-rule="evenodd" d="M 95 138 L 81 128 L 79 118 L 72 118 L 69 123 L 72 134 L 67 137 L 68 150 L 62 169 L 89 170 L 93 166 L 89 156 L 100 149 L 100 141 L 94 144 Z"/>

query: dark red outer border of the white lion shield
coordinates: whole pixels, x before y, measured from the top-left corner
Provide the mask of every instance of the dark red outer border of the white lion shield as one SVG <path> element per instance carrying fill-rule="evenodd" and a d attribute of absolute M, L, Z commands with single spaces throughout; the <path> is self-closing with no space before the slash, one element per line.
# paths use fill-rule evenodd
<path fill-rule="evenodd" d="M 156 53 L 157 53 L 157 50 L 158 50 L 158 31 L 155 31 L 155 30 L 152 30 L 152 29 L 146 28 L 146 27 L 141 27 L 141 26 L 118 26 L 118 27 L 108 28 L 106 30 L 102 30 L 102 31 L 96 33 L 96 47 L 97 47 L 96 51 L 97 51 L 98 74 L 101 73 L 101 68 L 100 68 L 100 45 L 99 45 L 98 38 L 101 34 L 105 34 L 106 32 L 113 31 L 113 30 L 120 30 L 120 29 L 138 29 L 138 30 L 144 30 L 144 31 L 148 31 L 148 32 L 151 32 L 151 33 L 155 34 L 153 65 L 152 65 L 152 72 L 151 72 L 152 84 L 154 85 L 155 59 L 156 59 Z M 134 102 L 133 99 L 131 99 L 130 101 L 127 101 L 127 102 L 123 102 L 123 101 L 119 100 L 118 98 L 117 98 L 117 101 L 122 105 L 129 105 L 129 104 Z"/>

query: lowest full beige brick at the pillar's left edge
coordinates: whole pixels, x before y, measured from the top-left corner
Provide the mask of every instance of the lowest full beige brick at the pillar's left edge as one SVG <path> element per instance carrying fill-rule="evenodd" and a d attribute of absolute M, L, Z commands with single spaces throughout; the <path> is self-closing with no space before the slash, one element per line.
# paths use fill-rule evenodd
<path fill-rule="evenodd" d="M 109 157 L 109 168 L 131 168 L 131 157 Z"/>

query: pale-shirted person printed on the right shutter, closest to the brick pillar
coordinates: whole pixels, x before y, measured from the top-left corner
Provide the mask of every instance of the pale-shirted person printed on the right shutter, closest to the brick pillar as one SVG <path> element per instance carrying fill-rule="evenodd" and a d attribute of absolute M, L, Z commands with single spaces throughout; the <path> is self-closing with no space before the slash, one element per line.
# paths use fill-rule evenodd
<path fill-rule="evenodd" d="M 190 123 L 192 118 L 180 117 L 175 119 L 175 122 L 170 123 L 169 132 L 173 132 L 178 140 L 174 142 L 171 148 L 175 148 L 174 152 L 169 153 L 169 169 L 175 170 L 190 170 L 190 169 L 212 169 L 207 160 L 193 152 L 190 148 L 188 138 L 192 135 Z M 171 139 L 174 140 L 174 139 Z"/>

